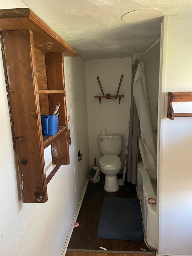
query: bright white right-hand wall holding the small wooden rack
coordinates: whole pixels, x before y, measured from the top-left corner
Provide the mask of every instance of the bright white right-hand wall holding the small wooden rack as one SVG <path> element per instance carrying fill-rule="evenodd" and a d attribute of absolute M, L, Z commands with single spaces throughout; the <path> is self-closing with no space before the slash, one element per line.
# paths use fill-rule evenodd
<path fill-rule="evenodd" d="M 192 117 L 167 118 L 167 93 L 192 91 L 191 24 L 192 15 L 165 16 L 162 27 L 158 254 L 192 255 Z"/>

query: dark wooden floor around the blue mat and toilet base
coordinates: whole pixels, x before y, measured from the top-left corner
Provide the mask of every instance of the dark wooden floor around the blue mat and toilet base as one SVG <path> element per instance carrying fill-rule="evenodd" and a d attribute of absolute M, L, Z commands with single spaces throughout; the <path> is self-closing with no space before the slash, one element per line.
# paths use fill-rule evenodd
<path fill-rule="evenodd" d="M 100 183 L 89 183 L 77 217 L 77 222 L 79 222 L 80 226 L 74 228 L 68 248 L 99 250 L 99 247 L 102 246 L 112 251 L 142 252 L 141 248 L 146 251 L 152 251 L 146 246 L 145 241 L 125 241 L 97 237 L 97 228 L 104 197 L 136 198 L 137 193 L 135 185 L 128 182 L 125 183 L 125 186 L 121 186 L 117 192 L 106 192 L 104 190 L 103 176 Z M 93 256 L 95 255 L 93 254 Z"/>

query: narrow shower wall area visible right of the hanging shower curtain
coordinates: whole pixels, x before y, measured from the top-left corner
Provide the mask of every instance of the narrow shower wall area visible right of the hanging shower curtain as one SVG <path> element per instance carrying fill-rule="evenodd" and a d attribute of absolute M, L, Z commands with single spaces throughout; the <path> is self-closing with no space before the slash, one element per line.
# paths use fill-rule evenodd
<path fill-rule="evenodd" d="M 134 54 L 133 59 L 135 60 L 139 56 L 141 56 L 141 54 Z M 160 53 L 149 52 L 145 56 L 143 56 L 140 61 L 143 61 L 145 68 L 147 99 L 152 123 L 153 138 L 157 151 L 157 134 L 155 133 L 155 128 L 157 127 L 156 107 L 158 101 Z"/>

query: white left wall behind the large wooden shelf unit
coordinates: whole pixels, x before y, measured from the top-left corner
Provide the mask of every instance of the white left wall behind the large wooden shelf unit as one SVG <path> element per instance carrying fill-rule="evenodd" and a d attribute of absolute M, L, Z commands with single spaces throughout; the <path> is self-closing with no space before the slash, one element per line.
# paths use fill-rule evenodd
<path fill-rule="evenodd" d="M 5 3 L 0 4 L 0 8 L 8 7 L 19 8 L 24 7 L 24 4 L 19 5 L 19 1 L 8 1 L 7 5 Z M 67 114 L 72 117 L 70 164 L 61 166 L 47 185 L 48 201 L 46 203 L 28 204 L 22 203 L 19 192 L 19 178 L 15 169 L 17 163 L 14 159 L 5 77 L 0 52 L 1 256 L 60 256 L 88 178 L 85 63 L 81 57 L 66 57 L 64 61 Z M 78 164 L 77 153 L 79 149 L 83 153 L 83 159 Z M 49 148 L 45 151 L 45 161 L 49 167 L 51 165 Z"/>

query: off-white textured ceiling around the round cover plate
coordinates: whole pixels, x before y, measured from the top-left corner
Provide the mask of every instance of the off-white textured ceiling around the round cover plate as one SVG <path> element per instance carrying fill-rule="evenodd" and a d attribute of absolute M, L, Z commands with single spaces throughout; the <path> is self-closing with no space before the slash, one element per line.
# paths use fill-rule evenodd
<path fill-rule="evenodd" d="M 161 20 L 127 24 L 132 10 L 156 8 L 168 15 L 192 13 L 192 0 L 23 0 L 84 59 L 142 53 L 160 37 Z M 159 45 L 153 49 L 158 51 Z"/>

